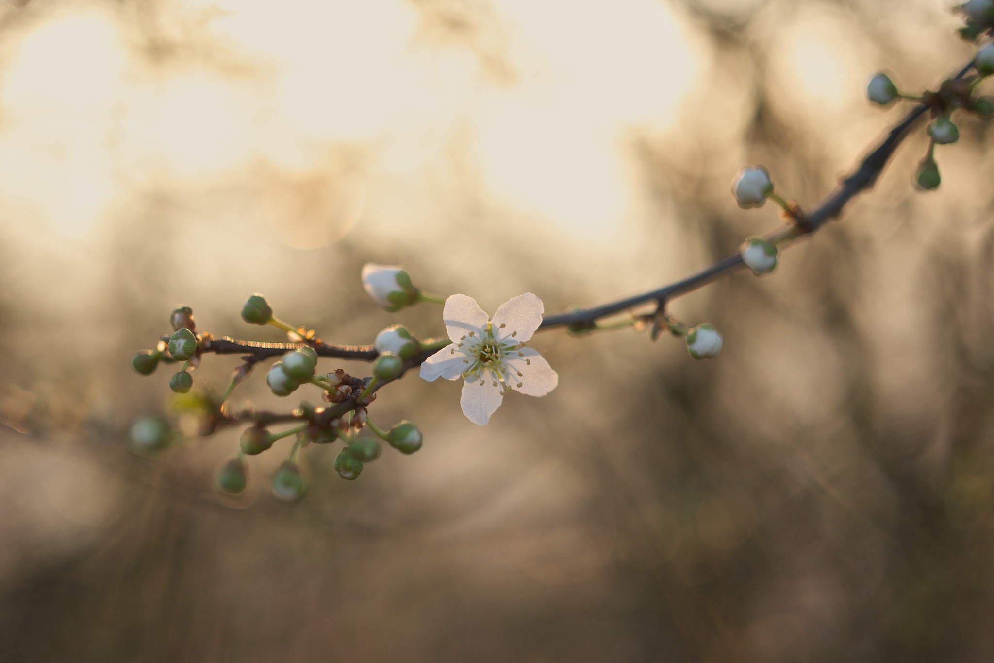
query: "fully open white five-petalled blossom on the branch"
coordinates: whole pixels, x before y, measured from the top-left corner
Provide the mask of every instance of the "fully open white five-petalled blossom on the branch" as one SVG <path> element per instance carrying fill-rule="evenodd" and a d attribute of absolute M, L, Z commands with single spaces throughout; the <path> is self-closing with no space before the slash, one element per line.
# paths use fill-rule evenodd
<path fill-rule="evenodd" d="M 490 420 L 508 392 L 545 396 L 556 389 L 559 376 L 537 350 L 525 347 L 544 310 L 542 300 L 526 292 L 501 304 L 488 320 L 475 299 L 453 294 L 442 313 L 452 345 L 421 364 L 421 378 L 462 378 L 462 413 L 479 425 Z"/>

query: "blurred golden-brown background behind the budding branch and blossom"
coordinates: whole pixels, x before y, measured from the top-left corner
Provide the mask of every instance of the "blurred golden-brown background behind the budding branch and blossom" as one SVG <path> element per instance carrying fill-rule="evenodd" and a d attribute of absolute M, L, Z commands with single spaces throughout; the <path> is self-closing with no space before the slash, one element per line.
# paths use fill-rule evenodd
<path fill-rule="evenodd" d="M 293 506 L 237 430 L 147 458 L 170 330 L 329 342 L 379 309 L 369 260 L 484 309 L 558 312 L 676 279 L 813 205 L 898 121 L 869 77 L 970 58 L 946 0 L 35 0 L 0 9 L 4 661 L 989 661 L 994 161 L 923 131 L 840 223 L 679 300 L 725 350 L 536 337 L 560 374 L 486 427 L 409 375 L 372 409 L 424 447 L 355 482 L 301 454 Z M 208 356 L 223 389 L 235 357 Z M 368 367 L 322 360 L 322 370 Z M 235 403 L 288 410 L 261 371 Z M 311 402 L 318 396 L 301 390 Z M 297 395 L 294 395 L 296 397 Z M 337 445 L 336 445 L 337 446 Z"/>

